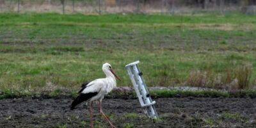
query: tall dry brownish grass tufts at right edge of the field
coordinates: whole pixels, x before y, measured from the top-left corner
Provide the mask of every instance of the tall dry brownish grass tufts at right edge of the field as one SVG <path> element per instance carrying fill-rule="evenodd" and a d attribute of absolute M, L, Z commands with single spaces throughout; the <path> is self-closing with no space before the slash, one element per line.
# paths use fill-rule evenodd
<path fill-rule="evenodd" d="M 193 70 L 189 74 L 186 85 L 216 89 L 242 90 L 250 86 L 252 65 L 241 65 L 228 68 L 223 74 L 214 74 L 212 70 Z"/>

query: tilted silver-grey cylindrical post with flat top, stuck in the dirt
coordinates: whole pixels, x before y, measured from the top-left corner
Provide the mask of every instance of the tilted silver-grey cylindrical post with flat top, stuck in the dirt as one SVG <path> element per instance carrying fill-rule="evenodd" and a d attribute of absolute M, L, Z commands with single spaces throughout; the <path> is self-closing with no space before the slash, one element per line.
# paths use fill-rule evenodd
<path fill-rule="evenodd" d="M 148 88 L 142 77 L 142 72 L 138 67 L 138 63 L 140 63 L 140 61 L 129 63 L 125 67 L 127 68 L 128 74 L 134 86 L 134 90 L 138 96 L 138 99 L 140 100 L 140 105 L 143 108 L 145 115 L 150 118 L 157 118 L 158 115 L 154 106 L 156 101 L 152 101 L 150 97 Z"/>

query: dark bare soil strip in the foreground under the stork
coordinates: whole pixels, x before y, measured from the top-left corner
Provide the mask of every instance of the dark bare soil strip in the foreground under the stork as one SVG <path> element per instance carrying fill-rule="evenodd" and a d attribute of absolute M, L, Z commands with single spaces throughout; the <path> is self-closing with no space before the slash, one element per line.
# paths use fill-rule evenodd
<path fill-rule="evenodd" d="M 70 111 L 72 98 L 0 100 L 0 127 L 89 127 L 86 106 Z M 143 115 L 137 99 L 104 99 L 103 108 L 116 127 L 256 127 L 256 99 L 156 99 L 159 120 Z M 109 127 L 95 107 L 95 127 Z"/>

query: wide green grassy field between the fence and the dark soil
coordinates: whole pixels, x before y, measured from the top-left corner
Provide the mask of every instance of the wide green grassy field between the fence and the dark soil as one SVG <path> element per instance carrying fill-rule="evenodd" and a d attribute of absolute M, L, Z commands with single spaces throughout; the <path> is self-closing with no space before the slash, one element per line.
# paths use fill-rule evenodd
<path fill-rule="evenodd" d="M 0 90 L 77 90 L 104 77 L 132 86 L 124 66 L 140 60 L 148 86 L 251 88 L 256 16 L 0 14 Z"/>

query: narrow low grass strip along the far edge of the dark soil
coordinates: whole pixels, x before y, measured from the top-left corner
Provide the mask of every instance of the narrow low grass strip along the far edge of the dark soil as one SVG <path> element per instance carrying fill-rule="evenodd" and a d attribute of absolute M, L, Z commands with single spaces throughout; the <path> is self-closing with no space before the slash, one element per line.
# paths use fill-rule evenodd
<path fill-rule="evenodd" d="M 77 91 L 68 91 L 57 89 L 52 92 L 29 92 L 22 90 L 3 90 L 0 95 L 1 99 L 10 99 L 10 98 L 19 98 L 19 97 L 47 97 L 47 98 L 60 98 L 60 97 L 77 97 Z M 225 97 L 225 98 L 255 98 L 255 90 L 243 90 L 237 92 L 218 92 L 218 91 L 180 91 L 180 90 L 156 90 L 150 91 L 150 96 L 154 99 L 157 98 L 172 98 L 172 97 Z M 120 92 L 111 92 L 106 95 L 106 98 L 110 99 L 137 99 L 135 92 L 129 93 L 120 93 Z M 138 115 L 131 113 L 125 115 L 127 118 L 137 118 Z"/>

